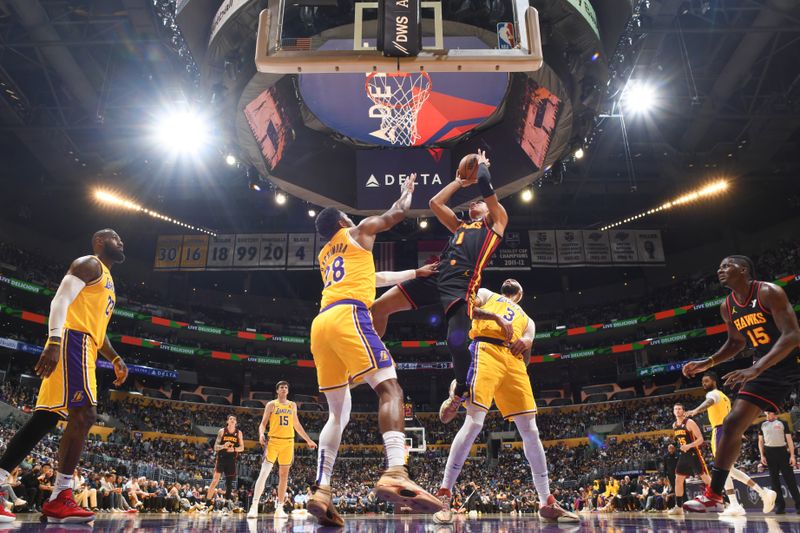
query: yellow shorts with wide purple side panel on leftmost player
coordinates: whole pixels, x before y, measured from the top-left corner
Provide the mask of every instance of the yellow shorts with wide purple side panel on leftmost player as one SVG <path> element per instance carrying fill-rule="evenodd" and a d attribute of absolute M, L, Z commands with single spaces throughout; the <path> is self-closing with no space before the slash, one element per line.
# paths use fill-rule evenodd
<path fill-rule="evenodd" d="M 86 333 L 65 329 L 56 368 L 39 386 L 36 410 L 67 418 L 73 407 L 97 405 L 96 363 L 94 339 Z"/>

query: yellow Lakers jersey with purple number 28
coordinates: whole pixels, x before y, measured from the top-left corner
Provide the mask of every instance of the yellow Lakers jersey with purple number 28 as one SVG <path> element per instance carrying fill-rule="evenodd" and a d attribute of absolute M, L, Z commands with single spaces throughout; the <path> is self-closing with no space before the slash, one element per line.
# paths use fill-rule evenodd
<path fill-rule="evenodd" d="M 358 300 L 367 307 L 375 300 L 375 262 L 342 228 L 319 253 L 322 274 L 322 308 L 340 300 Z"/>

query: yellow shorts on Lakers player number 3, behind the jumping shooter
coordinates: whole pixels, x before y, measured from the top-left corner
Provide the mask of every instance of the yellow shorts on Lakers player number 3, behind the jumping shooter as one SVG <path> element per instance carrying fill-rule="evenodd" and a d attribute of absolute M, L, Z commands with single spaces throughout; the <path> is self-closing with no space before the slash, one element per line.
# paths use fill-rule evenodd
<path fill-rule="evenodd" d="M 484 341 L 473 342 L 469 350 L 468 401 L 487 411 L 494 401 L 503 418 L 536 413 L 531 380 L 521 358 L 505 346 Z"/>

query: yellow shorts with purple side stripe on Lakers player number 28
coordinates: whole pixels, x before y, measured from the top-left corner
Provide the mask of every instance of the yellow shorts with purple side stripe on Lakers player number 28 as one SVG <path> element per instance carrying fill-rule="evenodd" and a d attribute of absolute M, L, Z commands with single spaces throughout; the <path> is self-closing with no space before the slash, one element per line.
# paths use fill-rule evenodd
<path fill-rule="evenodd" d="M 311 323 L 311 354 L 322 392 L 394 367 L 392 355 L 375 332 L 369 309 L 358 300 L 340 300 L 320 311 Z"/>

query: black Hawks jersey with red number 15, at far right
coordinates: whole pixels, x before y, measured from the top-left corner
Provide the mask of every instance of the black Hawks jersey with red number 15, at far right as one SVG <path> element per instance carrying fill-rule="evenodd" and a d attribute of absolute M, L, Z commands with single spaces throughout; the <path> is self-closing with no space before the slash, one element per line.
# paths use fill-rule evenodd
<path fill-rule="evenodd" d="M 781 336 L 781 331 L 775 324 L 772 313 L 761 304 L 759 291 L 761 281 L 754 281 L 750 284 L 750 293 L 745 301 L 740 302 L 736 295 L 731 292 L 725 299 L 728 307 L 728 316 L 736 328 L 746 339 L 747 347 L 756 352 L 756 358 L 763 357 L 769 353 L 772 347 Z M 795 366 L 798 361 L 797 350 L 787 355 L 775 367 L 783 365 Z"/>

